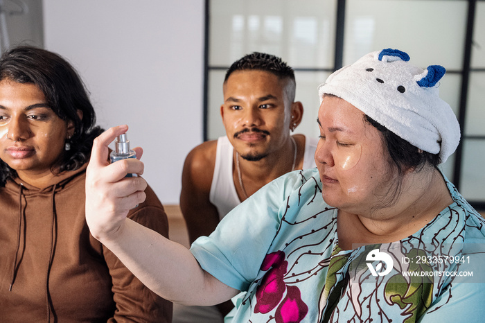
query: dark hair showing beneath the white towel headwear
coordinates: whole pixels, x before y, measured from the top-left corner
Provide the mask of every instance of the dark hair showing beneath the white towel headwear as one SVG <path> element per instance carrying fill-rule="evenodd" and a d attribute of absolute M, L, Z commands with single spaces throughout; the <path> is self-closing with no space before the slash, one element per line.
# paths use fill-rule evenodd
<path fill-rule="evenodd" d="M 421 171 L 427 164 L 436 167 L 441 163 L 439 155 L 416 148 L 411 143 L 405 141 L 405 139 L 385 128 L 384 125 L 373 120 L 367 114 L 364 114 L 364 121 L 373 125 L 373 127 L 377 128 L 382 134 L 385 147 L 387 148 L 392 161 L 394 161 L 394 165 L 398 169 L 399 175 L 411 168 L 413 168 L 414 171 Z"/>

